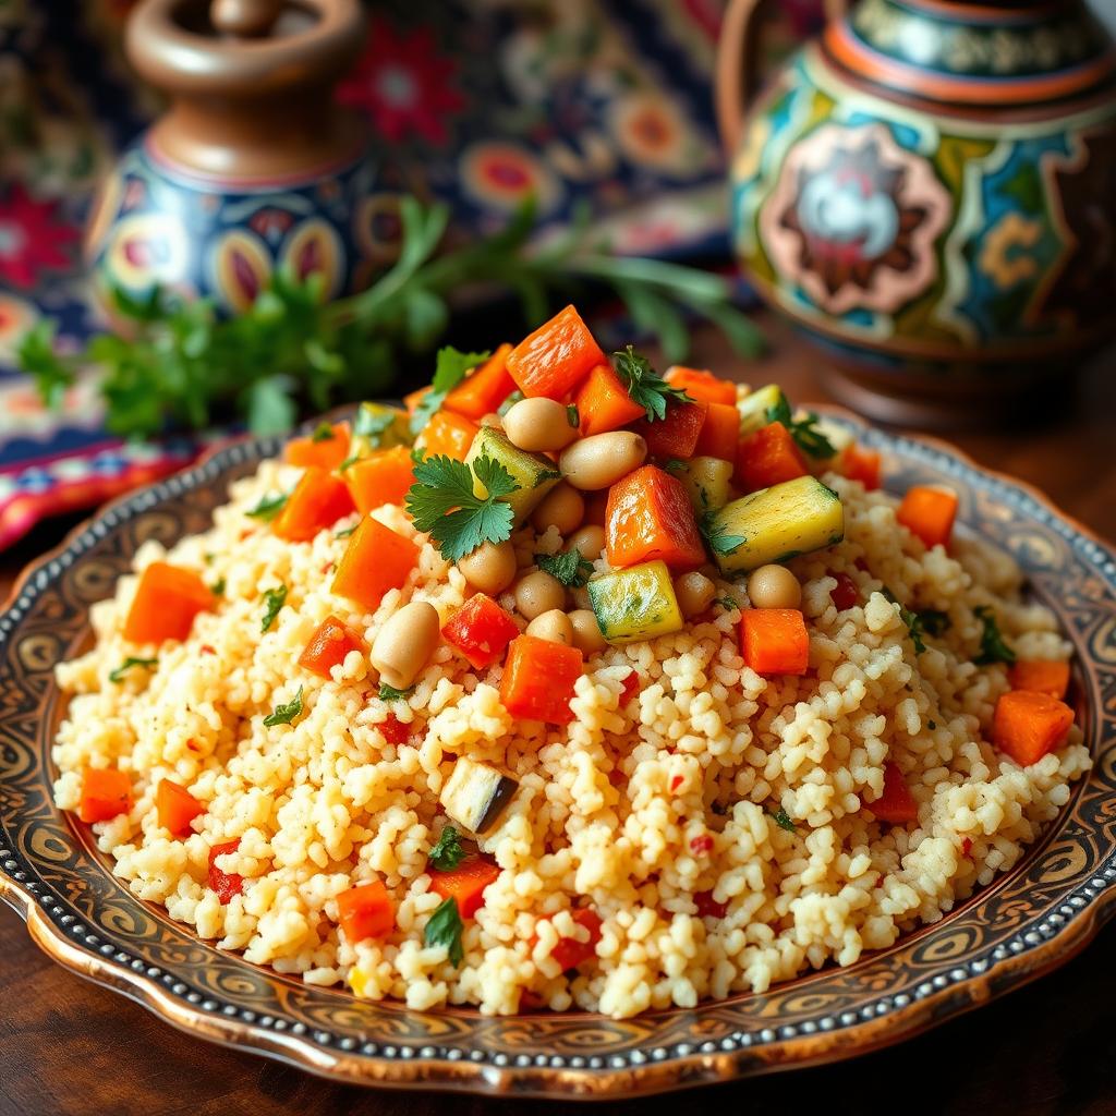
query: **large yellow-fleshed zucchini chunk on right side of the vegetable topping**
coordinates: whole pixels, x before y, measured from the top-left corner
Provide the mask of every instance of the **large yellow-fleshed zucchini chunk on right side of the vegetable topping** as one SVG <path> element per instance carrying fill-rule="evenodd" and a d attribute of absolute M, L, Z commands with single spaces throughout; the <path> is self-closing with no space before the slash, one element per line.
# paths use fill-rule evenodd
<path fill-rule="evenodd" d="M 816 477 L 797 477 L 741 497 L 706 522 L 710 549 L 727 575 L 788 561 L 845 537 L 840 497 Z"/>

